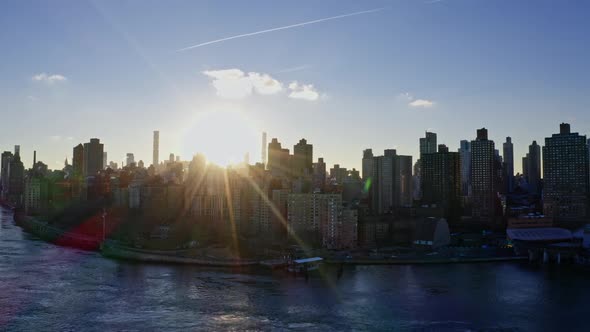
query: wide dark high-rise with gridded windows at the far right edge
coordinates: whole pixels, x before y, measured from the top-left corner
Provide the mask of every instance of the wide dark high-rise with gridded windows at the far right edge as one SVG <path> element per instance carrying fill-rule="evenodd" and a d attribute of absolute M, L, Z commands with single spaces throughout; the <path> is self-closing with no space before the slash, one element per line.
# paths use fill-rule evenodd
<path fill-rule="evenodd" d="M 555 220 L 588 217 L 588 142 L 562 123 L 543 147 L 543 210 Z"/>

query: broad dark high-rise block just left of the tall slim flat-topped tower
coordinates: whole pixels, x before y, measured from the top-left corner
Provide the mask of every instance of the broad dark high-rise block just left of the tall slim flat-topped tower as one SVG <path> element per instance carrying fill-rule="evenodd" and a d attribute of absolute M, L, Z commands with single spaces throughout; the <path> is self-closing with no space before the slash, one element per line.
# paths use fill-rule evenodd
<path fill-rule="evenodd" d="M 442 206 L 446 211 L 459 204 L 461 156 L 439 145 L 438 152 L 422 155 L 422 203 Z"/>

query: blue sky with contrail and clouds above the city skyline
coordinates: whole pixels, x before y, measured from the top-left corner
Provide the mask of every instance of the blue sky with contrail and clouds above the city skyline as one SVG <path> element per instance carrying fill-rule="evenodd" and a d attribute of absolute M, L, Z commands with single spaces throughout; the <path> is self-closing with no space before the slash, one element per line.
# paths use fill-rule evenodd
<path fill-rule="evenodd" d="M 0 149 L 50 168 L 91 137 L 109 161 L 260 160 L 261 132 L 360 168 L 362 150 L 501 150 L 590 134 L 587 1 L 0 1 Z"/>

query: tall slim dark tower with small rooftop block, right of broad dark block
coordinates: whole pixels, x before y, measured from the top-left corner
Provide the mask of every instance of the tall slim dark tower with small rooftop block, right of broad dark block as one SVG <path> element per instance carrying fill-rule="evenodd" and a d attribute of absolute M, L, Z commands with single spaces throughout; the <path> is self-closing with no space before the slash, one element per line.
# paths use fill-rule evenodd
<path fill-rule="evenodd" d="M 496 157 L 494 141 L 488 130 L 477 130 L 471 141 L 472 216 L 479 221 L 493 222 L 496 216 Z"/>

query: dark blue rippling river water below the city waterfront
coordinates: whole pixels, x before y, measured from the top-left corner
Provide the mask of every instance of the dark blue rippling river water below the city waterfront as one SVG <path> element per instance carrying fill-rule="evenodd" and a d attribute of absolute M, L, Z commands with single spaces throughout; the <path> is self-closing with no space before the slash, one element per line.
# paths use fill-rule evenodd
<path fill-rule="evenodd" d="M 0 213 L 0 331 L 589 329 L 587 272 L 359 266 L 306 282 L 113 261 L 39 241 Z"/>

